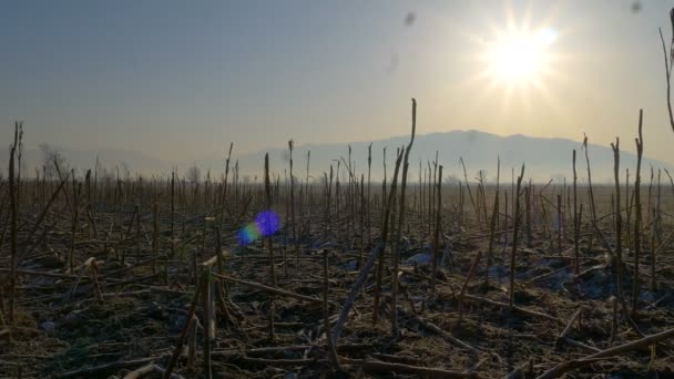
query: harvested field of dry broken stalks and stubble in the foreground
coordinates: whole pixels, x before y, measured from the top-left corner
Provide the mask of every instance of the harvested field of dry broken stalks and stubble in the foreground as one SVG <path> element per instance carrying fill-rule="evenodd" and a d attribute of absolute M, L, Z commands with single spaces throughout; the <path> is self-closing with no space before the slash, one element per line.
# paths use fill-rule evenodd
<path fill-rule="evenodd" d="M 671 375 L 664 183 L 617 206 L 614 187 L 535 184 L 524 166 L 442 185 L 436 162 L 407 183 L 412 142 L 384 185 L 350 157 L 346 180 L 318 182 L 244 183 L 231 158 L 221 181 L 3 182 L 0 372 Z"/>

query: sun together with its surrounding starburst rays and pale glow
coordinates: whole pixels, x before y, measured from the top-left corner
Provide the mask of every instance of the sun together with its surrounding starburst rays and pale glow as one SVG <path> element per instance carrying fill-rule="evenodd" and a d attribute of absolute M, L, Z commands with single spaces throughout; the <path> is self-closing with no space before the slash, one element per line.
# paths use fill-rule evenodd
<path fill-rule="evenodd" d="M 501 117 L 543 111 L 563 116 L 565 103 L 558 95 L 573 80 L 564 70 L 575 59 L 565 41 L 573 25 L 563 23 L 559 7 L 534 12 L 531 4 L 515 9 L 508 1 L 502 12 L 482 9 L 479 28 L 459 30 L 471 45 L 463 55 L 470 73 L 459 86 L 470 91 L 476 111 L 489 106 Z"/>

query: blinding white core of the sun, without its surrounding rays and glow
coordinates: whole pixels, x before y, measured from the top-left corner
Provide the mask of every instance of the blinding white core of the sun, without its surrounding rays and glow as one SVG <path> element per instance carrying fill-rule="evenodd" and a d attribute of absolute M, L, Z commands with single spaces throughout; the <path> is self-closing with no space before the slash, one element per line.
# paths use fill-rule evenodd
<path fill-rule="evenodd" d="M 552 28 L 500 32 L 486 43 L 482 57 L 486 74 L 493 82 L 510 88 L 535 85 L 550 70 L 550 48 L 555 40 L 556 32 Z"/>

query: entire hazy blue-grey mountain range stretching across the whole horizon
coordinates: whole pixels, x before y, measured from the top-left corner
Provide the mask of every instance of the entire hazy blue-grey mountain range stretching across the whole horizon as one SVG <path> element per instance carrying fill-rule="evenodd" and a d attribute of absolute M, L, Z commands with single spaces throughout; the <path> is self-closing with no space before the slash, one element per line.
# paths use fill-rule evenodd
<path fill-rule="evenodd" d="M 392 174 L 395 165 L 396 148 L 407 145 L 409 136 L 396 136 L 386 140 L 372 141 L 372 181 L 379 181 L 382 177 L 382 148 L 387 146 L 387 166 L 388 175 Z M 360 173 L 366 174 L 367 178 L 367 151 L 370 142 L 354 142 L 351 146 L 351 160 L 356 162 L 356 173 L 358 177 Z M 348 161 L 349 144 L 307 144 L 295 146 L 294 173 L 295 176 L 304 178 L 306 176 L 306 157 L 310 151 L 309 176 L 314 178 L 323 177 L 323 172 L 329 172 L 330 164 L 337 168 L 336 160 Z M 102 150 L 102 151 L 81 151 L 54 146 L 65 161 L 73 167 L 79 170 L 93 168 L 96 156 L 99 157 L 102 167 L 109 172 L 119 167 L 124 173 L 127 167 L 132 174 L 140 173 L 143 175 L 165 175 L 171 172 L 172 167 L 176 167 L 178 174 L 186 173 L 188 167 L 196 164 L 205 175 L 210 170 L 212 177 L 219 177 L 224 172 L 225 157 L 208 158 L 195 157 L 193 161 L 173 162 L 153 157 L 151 155 L 122 150 Z M 525 177 L 533 178 L 538 182 L 547 182 L 550 178 L 561 181 L 563 177 L 572 177 L 572 151 L 576 150 L 576 170 L 579 182 L 584 182 L 586 177 L 586 165 L 582 143 L 565 139 L 541 139 L 531 137 L 521 134 L 510 136 L 499 136 L 496 134 L 484 133 L 480 131 L 452 131 L 443 133 L 431 133 L 417 135 L 415 145 L 410 154 L 410 181 L 416 182 L 419 177 L 419 163 L 422 167 L 428 167 L 428 161 L 433 161 L 436 152 L 438 152 L 438 161 L 443 165 L 446 177 L 463 177 L 462 167 L 459 158 L 462 157 L 469 180 L 478 175 L 479 170 L 483 170 L 484 177 L 488 181 L 493 181 L 497 174 L 497 158 L 501 160 L 501 177 L 503 181 L 510 181 L 511 170 L 519 167 L 525 163 Z M 232 167 L 235 161 L 238 161 L 241 175 L 248 180 L 254 180 L 259 176 L 264 167 L 264 155 L 269 153 L 270 171 L 284 177 L 284 170 L 288 167 L 289 153 L 287 144 L 273 147 L 267 151 L 258 151 L 254 153 L 236 154 L 234 151 L 232 157 Z M 595 183 L 606 183 L 613 177 L 613 152 L 609 146 L 595 144 L 589 145 L 590 163 L 593 172 L 593 181 Z M 7 172 L 8 154 L 0 156 L 2 172 Z M 42 166 L 42 152 L 40 150 L 28 150 L 24 152 L 23 162 L 25 162 L 24 175 L 33 176 L 34 167 Z M 340 166 L 344 167 L 344 161 Z M 621 153 L 621 175 L 624 177 L 624 168 L 629 167 L 634 172 L 636 167 L 636 156 L 634 154 Z M 662 161 L 649 160 L 644 157 L 642 168 L 644 177 L 647 177 L 650 166 L 663 167 L 672 170 L 672 166 Z M 517 174 L 515 172 L 515 174 Z M 347 172 L 340 171 L 341 177 L 346 177 Z"/>

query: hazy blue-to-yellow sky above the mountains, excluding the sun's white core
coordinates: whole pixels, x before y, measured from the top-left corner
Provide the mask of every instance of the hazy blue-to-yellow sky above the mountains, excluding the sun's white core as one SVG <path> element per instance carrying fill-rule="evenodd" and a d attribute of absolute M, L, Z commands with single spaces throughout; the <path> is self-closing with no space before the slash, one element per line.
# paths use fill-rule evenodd
<path fill-rule="evenodd" d="M 29 146 L 163 158 L 409 132 L 562 136 L 674 162 L 657 28 L 674 1 L 6 1 L 0 121 Z M 410 16 L 410 12 L 412 12 Z M 539 85 L 480 75 L 514 22 L 554 33 Z"/>

